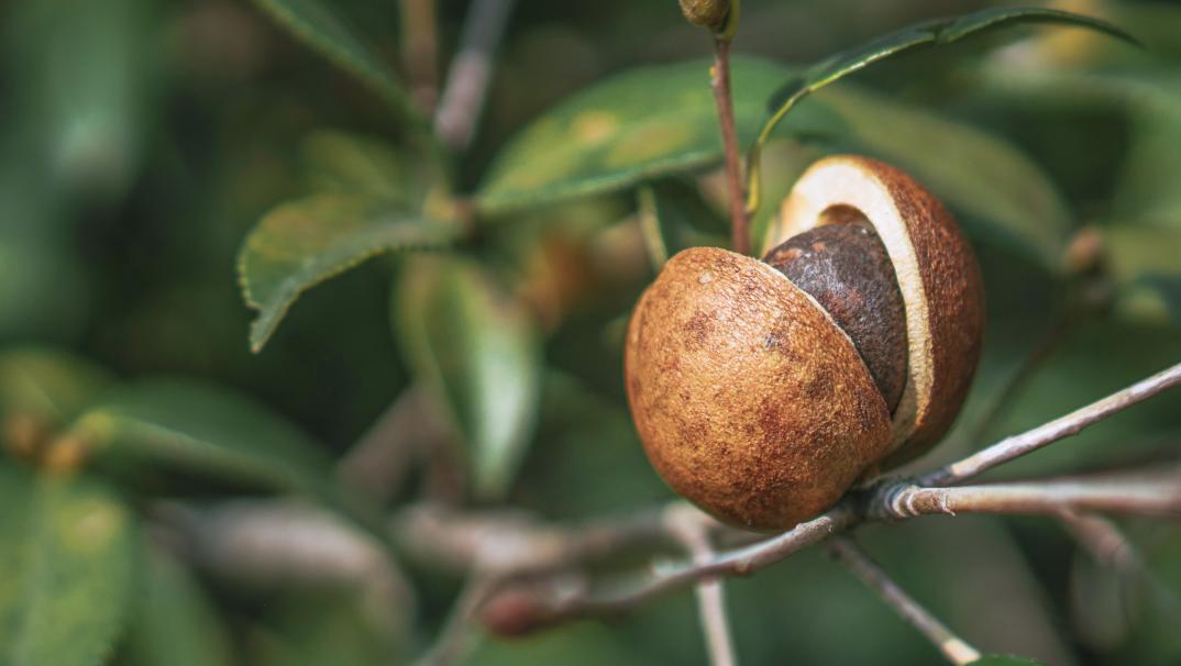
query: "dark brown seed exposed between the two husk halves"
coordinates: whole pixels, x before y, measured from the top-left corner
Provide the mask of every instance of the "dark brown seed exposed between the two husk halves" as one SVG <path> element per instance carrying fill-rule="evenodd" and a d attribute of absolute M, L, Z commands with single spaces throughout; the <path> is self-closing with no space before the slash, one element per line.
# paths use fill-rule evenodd
<path fill-rule="evenodd" d="M 849 335 L 890 413 L 906 385 L 906 306 L 881 239 L 860 215 L 815 227 L 763 261 L 808 292 Z"/>

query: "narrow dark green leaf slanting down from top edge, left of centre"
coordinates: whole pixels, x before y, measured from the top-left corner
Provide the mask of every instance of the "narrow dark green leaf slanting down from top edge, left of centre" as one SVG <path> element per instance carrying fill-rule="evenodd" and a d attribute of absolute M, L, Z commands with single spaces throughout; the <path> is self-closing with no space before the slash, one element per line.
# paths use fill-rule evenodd
<path fill-rule="evenodd" d="M 368 86 L 404 118 L 417 118 L 397 76 L 338 13 L 321 0 L 254 0 L 295 39 Z"/>

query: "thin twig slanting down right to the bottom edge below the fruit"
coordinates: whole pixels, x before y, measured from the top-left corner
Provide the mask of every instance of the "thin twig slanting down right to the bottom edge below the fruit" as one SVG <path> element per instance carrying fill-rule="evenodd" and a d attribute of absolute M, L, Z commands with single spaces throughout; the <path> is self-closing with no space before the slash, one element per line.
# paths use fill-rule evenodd
<path fill-rule="evenodd" d="M 889 575 L 852 538 L 839 536 L 830 542 L 829 549 L 861 579 L 861 582 L 876 592 L 882 601 L 934 644 L 948 661 L 963 666 L 980 659 L 979 651 L 952 633 L 946 625 L 890 580 Z"/>

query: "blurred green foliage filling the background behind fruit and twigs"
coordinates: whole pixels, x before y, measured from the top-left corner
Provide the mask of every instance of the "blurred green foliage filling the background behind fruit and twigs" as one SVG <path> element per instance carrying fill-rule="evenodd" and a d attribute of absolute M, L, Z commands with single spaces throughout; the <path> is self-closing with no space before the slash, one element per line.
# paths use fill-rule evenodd
<path fill-rule="evenodd" d="M 436 5 L 442 65 L 469 4 Z M 991 5 L 746 0 L 743 141 L 808 63 Z M 810 161 L 857 151 L 927 183 L 978 250 L 985 360 L 920 468 L 1181 359 L 1181 7 L 1052 8 L 1147 48 L 1033 27 L 902 56 L 810 97 L 764 151 L 756 234 Z M 621 350 L 659 263 L 726 239 L 709 38 L 671 1 L 520 2 L 455 155 L 425 136 L 399 31 L 397 4 L 372 0 L 0 5 L 0 662 L 400 662 L 461 585 L 416 569 L 404 634 L 365 590 L 193 568 L 162 503 L 299 495 L 381 531 L 377 516 L 424 495 L 548 520 L 672 497 L 635 439 Z M 419 458 L 389 502 L 340 483 L 334 461 L 419 386 L 462 446 L 458 489 Z M 1179 407 L 1162 396 L 994 474 L 1175 458 Z M 1049 521 L 862 536 L 988 652 L 1176 664 L 1181 531 L 1123 527 L 1156 583 Z M 726 589 L 743 662 L 940 662 L 820 553 Z M 488 638 L 469 662 L 704 664 L 698 634 L 679 594 Z"/>

